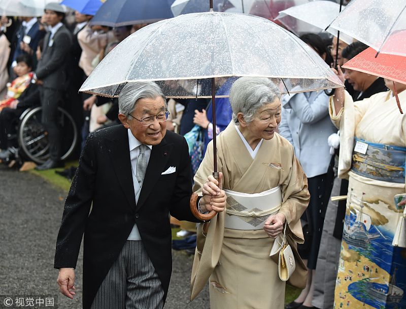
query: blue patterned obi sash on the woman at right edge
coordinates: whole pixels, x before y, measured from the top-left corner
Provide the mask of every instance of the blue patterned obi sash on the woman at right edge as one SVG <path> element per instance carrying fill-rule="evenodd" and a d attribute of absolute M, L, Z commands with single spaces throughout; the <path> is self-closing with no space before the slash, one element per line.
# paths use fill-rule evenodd
<path fill-rule="evenodd" d="M 376 180 L 404 182 L 406 148 L 370 143 L 357 138 L 355 141 L 367 143 L 368 148 L 365 154 L 354 150 L 351 166 L 354 173 Z"/>

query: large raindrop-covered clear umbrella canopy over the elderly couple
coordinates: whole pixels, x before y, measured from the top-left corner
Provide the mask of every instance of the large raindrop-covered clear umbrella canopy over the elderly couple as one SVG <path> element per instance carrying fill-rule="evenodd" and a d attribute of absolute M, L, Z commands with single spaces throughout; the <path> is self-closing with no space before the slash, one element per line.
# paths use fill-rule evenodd
<path fill-rule="evenodd" d="M 101 61 L 80 91 L 118 97 L 125 83 L 150 80 L 168 98 L 212 98 L 211 78 L 231 76 L 272 78 L 285 93 L 343 86 L 312 48 L 275 23 L 206 12 L 138 30 Z"/>

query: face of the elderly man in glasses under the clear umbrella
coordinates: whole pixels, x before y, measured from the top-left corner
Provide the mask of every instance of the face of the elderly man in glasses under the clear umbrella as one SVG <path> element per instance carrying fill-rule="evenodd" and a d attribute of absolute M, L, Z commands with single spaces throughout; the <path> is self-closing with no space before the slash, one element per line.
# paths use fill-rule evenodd
<path fill-rule="evenodd" d="M 143 119 L 148 116 L 155 116 L 166 111 L 165 101 L 162 97 L 155 99 L 139 99 L 136 108 L 130 113 L 137 119 Z M 156 117 L 149 126 L 143 126 L 143 122 L 131 116 L 125 117 L 119 114 L 119 119 L 124 127 L 131 130 L 132 135 L 141 143 L 146 145 L 158 145 L 166 134 L 166 121 L 158 122 Z"/>

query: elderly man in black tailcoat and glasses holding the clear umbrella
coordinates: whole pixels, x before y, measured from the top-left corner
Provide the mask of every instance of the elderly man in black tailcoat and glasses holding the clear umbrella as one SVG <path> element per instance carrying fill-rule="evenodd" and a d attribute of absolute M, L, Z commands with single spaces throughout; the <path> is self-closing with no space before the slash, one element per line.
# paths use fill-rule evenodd
<path fill-rule="evenodd" d="M 172 271 L 169 213 L 197 222 L 188 145 L 166 131 L 166 99 L 155 83 L 126 84 L 119 108 L 122 125 L 86 140 L 57 238 L 57 282 L 73 298 L 84 233 L 84 309 L 162 308 Z M 224 210 L 217 186 L 209 176 L 199 211 Z"/>

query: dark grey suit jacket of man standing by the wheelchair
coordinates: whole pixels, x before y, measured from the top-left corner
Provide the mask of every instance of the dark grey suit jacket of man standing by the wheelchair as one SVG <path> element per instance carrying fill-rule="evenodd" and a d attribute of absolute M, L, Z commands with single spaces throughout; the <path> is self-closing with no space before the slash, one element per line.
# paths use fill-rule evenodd
<path fill-rule="evenodd" d="M 44 82 L 45 88 L 66 90 L 68 86 L 67 59 L 72 47 L 72 34 L 65 25 L 62 25 L 52 38 L 52 46 L 48 46 L 50 36 L 50 32 L 45 36 L 36 75 Z"/>

